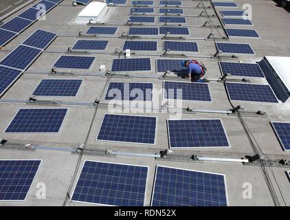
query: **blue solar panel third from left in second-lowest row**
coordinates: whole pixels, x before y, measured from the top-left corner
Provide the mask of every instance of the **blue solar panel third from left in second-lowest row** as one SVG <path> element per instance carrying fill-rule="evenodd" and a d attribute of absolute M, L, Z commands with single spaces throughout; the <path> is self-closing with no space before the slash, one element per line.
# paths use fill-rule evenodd
<path fill-rule="evenodd" d="M 167 120 L 170 148 L 229 147 L 220 119 Z"/>

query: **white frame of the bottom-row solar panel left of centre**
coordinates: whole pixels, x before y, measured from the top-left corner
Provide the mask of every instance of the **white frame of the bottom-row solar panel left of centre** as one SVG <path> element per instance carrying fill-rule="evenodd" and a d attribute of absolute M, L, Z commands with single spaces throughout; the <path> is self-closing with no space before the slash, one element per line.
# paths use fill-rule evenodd
<path fill-rule="evenodd" d="M 98 160 L 85 159 L 85 161 L 82 164 L 82 169 L 85 166 L 85 162 L 96 162 L 96 163 L 103 163 L 103 164 L 118 164 L 118 163 L 114 163 L 114 162 L 101 162 L 101 161 L 98 161 Z M 146 167 L 147 168 L 146 184 L 145 184 L 145 192 L 144 192 L 144 202 L 143 202 L 143 206 L 145 206 L 146 192 L 148 191 L 148 174 L 149 174 L 149 171 L 150 171 L 150 167 L 149 166 L 143 166 L 143 165 L 134 165 L 134 164 L 118 164 L 118 165 L 140 166 L 140 167 Z M 77 202 L 77 203 L 88 203 L 88 204 L 100 205 L 100 206 L 114 206 L 114 205 L 109 205 L 109 204 L 104 204 L 104 203 L 91 203 L 91 202 L 87 202 L 87 201 L 72 200 L 72 197 L 74 196 L 74 192 L 76 190 L 76 186 L 78 185 L 78 180 L 80 179 L 80 174 L 82 173 L 82 169 L 80 170 L 80 173 L 78 174 L 78 179 L 75 181 L 74 190 L 71 193 L 71 198 L 69 199 L 69 201 L 73 201 L 73 202 Z"/>

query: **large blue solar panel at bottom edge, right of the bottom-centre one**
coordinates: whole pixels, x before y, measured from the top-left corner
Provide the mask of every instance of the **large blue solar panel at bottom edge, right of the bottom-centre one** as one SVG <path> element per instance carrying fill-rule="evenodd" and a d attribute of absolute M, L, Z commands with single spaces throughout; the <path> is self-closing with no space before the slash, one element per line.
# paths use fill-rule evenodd
<path fill-rule="evenodd" d="M 158 165 L 151 206 L 227 206 L 225 175 Z"/>

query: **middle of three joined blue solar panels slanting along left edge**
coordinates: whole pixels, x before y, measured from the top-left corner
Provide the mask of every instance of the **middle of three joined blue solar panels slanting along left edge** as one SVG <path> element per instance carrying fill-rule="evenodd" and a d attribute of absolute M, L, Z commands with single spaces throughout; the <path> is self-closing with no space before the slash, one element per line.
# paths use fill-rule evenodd
<path fill-rule="evenodd" d="M 17 69 L 26 69 L 41 54 L 41 50 L 19 45 L 8 56 L 3 58 L 0 65 L 14 67 Z"/>

